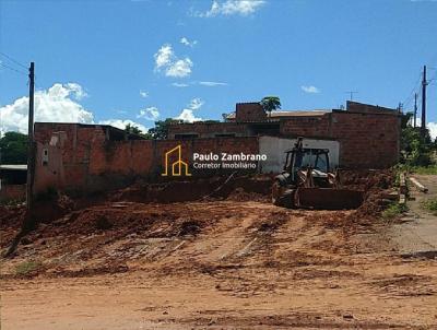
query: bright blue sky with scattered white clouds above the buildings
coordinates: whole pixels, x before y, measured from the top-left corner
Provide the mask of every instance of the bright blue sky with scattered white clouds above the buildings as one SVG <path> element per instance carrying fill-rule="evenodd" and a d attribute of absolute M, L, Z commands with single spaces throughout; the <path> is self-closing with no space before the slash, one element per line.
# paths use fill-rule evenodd
<path fill-rule="evenodd" d="M 24 64 L 36 62 L 44 120 L 129 119 L 152 127 L 150 119 L 181 114 L 220 119 L 235 103 L 265 95 L 280 96 L 283 109 L 336 108 L 346 91 L 357 91 L 358 102 L 395 107 L 408 101 L 411 108 L 422 66 L 436 76 L 436 1 L 0 5 L 0 51 Z M 20 129 L 27 81 L 9 68 L 25 69 L 1 55 L 0 60 L 1 125 Z M 428 120 L 436 122 L 436 81 L 428 97 Z"/>

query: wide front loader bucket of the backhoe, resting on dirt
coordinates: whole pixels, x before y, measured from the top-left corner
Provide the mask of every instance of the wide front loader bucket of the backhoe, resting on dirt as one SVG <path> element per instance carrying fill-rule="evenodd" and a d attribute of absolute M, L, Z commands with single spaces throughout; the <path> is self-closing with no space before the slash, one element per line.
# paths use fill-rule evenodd
<path fill-rule="evenodd" d="M 363 203 L 364 191 L 334 188 L 297 188 L 297 208 L 317 210 L 357 209 Z"/>

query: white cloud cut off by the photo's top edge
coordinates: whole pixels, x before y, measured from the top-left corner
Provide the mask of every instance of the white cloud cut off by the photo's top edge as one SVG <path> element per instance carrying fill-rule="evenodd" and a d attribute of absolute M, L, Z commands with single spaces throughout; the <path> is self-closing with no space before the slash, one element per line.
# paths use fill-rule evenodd
<path fill-rule="evenodd" d="M 263 4 L 265 4 L 264 0 L 226 0 L 224 2 L 214 0 L 209 11 L 197 12 L 194 15 L 199 17 L 214 17 L 217 15 L 247 16 L 255 13 Z"/>

